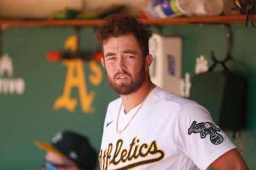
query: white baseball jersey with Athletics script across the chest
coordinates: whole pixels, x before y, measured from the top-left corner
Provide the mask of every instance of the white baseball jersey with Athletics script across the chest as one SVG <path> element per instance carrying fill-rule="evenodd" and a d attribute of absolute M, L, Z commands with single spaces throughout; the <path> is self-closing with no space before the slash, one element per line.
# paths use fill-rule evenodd
<path fill-rule="evenodd" d="M 100 168 L 103 169 L 207 169 L 235 145 L 212 121 L 210 113 L 195 101 L 156 87 L 127 128 L 116 131 L 122 100 L 108 105 Z M 122 106 L 118 130 L 131 120 Z"/>

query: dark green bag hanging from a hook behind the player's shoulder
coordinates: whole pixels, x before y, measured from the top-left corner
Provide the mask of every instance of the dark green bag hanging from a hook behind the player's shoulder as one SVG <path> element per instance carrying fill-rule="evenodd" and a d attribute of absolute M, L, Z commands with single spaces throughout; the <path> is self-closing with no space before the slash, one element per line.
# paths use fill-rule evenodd
<path fill-rule="evenodd" d="M 191 80 L 190 99 L 204 106 L 222 130 L 238 131 L 244 126 L 247 82 L 236 74 L 206 72 Z"/>

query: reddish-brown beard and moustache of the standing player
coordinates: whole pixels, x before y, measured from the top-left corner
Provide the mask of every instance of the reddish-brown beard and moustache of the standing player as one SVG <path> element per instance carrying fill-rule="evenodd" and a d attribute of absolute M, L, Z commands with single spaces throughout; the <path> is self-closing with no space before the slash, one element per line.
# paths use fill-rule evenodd
<path fill-rule="evenodd" d="M 135 78 L 132 78 L 132 75 L 126 71 L 119 71 L 117 72 L 113 78 L 110 78 L 110 76 L 108 75 L 107 70 L 105 69 L 105 73 L 106 73 L 106 77 L 108 80 L 108 83 L 110 84 L 110 86 L 120 95 L 130 95 L 132 94 L 134 91 L 138 90 L 143 82 L 145 81 L 145 61 L 143 62 L 139 73 L 135 76 Z M 126 75 L 127 77 L 131 78 L 131 82 L 129 83 L 125 83 L 125 82 L 121 82 L 121 83 L 116 83 L 116 77 L 120 74 Z"/>

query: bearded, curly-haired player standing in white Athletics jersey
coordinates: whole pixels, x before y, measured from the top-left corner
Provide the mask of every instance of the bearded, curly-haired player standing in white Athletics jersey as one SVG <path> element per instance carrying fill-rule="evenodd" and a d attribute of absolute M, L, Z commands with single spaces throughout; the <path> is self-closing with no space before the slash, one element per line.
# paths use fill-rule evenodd
<path fill-rule="evenodd" d="M 210 113 L 150 81 L 148 25 L 110 15 L 96 38 L 101 64 L 120 98 L 108 105 L 101 149 L 103 169 L 248 169 Z"/>

